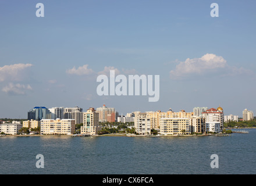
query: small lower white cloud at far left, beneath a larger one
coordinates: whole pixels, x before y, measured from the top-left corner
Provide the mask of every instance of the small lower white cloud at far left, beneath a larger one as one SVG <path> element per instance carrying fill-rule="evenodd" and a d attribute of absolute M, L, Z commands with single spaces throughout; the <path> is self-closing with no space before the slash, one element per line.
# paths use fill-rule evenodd
<path fill-rule="evenodd" d="M 32 90 L 30 85 L 9 83 L 2 88 L 2 91 L 9 95 L 24 95 L 26 90 Z"/>

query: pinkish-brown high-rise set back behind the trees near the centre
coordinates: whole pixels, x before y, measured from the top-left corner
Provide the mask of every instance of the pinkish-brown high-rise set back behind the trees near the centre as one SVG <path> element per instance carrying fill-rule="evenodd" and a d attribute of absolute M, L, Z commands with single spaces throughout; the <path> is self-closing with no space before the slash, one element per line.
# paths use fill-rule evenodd
<path fill-rule="evenodd" d="M 115 122 L 118 120 L 118 112 L 116 112 L 115 108 L 108 108 L 103 105 L 97 108 L 96 112 L 99 113 L 99 122 Z"/>

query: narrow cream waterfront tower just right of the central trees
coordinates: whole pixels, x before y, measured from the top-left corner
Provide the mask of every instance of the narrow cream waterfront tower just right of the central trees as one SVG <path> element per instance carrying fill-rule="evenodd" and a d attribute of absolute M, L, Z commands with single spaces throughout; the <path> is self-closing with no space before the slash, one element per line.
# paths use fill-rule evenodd
<path fill-rule="evenodd" d="M 147 113 L 134 113 L 134 128 L 136 129 L 136 133 L 140 135 L 151 134 L 151 122 Z"/>

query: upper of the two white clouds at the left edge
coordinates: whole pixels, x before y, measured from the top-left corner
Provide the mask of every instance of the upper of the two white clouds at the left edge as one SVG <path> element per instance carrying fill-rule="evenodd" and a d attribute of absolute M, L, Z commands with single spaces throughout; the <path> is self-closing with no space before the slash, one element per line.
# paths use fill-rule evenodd
<path fill-rule="evenodd" d="M 24 75 L 24 70 L 31 66 L 33 65 L 29 63 L 18 63 L 15 65 L 5 65 L 0 67 L 0 82 L 5 80 L 20 81 Z"/>

